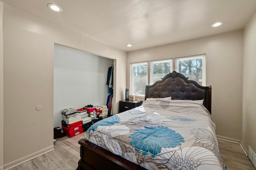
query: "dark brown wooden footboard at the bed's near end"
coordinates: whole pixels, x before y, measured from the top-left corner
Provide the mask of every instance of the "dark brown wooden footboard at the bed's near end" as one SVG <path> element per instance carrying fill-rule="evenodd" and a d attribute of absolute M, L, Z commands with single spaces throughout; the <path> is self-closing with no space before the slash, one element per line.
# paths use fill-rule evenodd
<path fill-rule="evenodd" d="M 105 150 L 85 139 L 80 139 L 80 160 L 77 170 L 146 170 L 112 152 Z"/>

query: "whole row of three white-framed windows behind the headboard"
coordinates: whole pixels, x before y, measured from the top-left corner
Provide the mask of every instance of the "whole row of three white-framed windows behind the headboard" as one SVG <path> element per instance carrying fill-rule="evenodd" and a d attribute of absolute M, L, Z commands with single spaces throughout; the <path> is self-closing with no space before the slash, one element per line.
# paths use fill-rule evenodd
<path fill-rule="evenodd" d="M 189 80 L 195 80 L 201 86 L 206 86 L 205 55 L 198 55 L 131 64 L 130 95 L 144 96 L 146 85 L 154 84 L 173 70 L 180 72 Z"/>

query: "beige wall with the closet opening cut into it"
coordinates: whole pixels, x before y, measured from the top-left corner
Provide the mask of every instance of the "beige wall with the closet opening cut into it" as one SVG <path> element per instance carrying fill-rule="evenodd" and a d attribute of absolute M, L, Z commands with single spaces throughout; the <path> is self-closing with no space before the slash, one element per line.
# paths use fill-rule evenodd
<path fill-rule="evenodd" d="M 3 139 L 8 168 L 53 149 L 54 43 L 114 59 L 114 113 L 126 88 L 126 52 L 7 4 L 3 7 Z M 36 111 L 38 105 L 42 110 Z"/>

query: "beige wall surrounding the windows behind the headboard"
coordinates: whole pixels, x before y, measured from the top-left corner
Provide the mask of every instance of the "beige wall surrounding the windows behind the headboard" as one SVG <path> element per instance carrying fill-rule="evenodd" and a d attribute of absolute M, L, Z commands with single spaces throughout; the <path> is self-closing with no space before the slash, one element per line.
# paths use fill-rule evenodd
<path fill-rule="evenodd" d="M 241 140 L 242 47 L 243 32 L 240 30 L 129 52 L 127 86 L 130 84 L 130 63 L 206 54 L 206 85 L 212 86 L 216 134 Z"/>

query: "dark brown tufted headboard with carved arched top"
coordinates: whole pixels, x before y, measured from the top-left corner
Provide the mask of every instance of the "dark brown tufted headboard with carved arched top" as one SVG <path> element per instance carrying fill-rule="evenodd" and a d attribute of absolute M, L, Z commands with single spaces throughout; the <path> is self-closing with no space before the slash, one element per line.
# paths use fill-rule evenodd
<path fill-rule="evenodd" d="M 194 80 L 188 80 L 183 74 L 173 71 L 162 80 L 146 86 L 145 100 L 147 98 L 166 98 L 172 100 L 202 100 L 204 106 L 211 113 L 212 86 L 200 86 Z"/>

